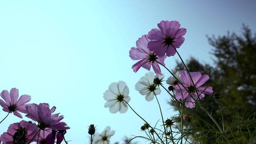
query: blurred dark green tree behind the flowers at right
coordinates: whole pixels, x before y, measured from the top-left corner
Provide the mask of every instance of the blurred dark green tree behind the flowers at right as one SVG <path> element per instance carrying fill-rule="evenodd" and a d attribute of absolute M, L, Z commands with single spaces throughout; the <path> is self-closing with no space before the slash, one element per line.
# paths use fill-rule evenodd
<path fill-rule="evenodd" d="M 242 35 L 235 33 L 227 33 L 226 36 L 208 37 L 209 44 L 213 46 L 211 54 L 214 56 L 214 65 L 202 64 L 195 58 L 187 61 L 190 72 L 199 71 L 210 76 L 210 80 L 206 85 L 213 87 L 214 92 L 218 92 L 221 96 L 219 101 L 222 103 L 224 124 L 226 127 L 235 126 L 243 120 L 250 120 L 250 114 L 256 110 L 256 35 L 243 25 Z M 177 62 L 176 70 L 184 70 L 183 64 Z M 174 102 L 170 102 L 172 106 Z M 219 103 L 212 96 L 205 96 L 201 100 L 201 104 L 207 108 L 212 115 L 221 124 L 221 115 L 219 112 Z M 194 108 L 199 114 L 201 111 Z M 187 112 L 189 114 L 189 112 Z M 243 117 L 243 118 L 241 118 Z M 206 116 L 201 118 L 212 123 Z M 179 119 L 177 119 L 179 122 Z M 213 124 L 213 123 L 212 123 Z M 188 124 L 190 125 L 190 124 Z M 208 127 L 196 117 L 192 117 L 192 125 L 195 129 Z M 214 124 L 213 124 L 214 125 Z M 254 125 L 254 124 L 252 124 Z M 248 131 L 254 131 L 254 128 L 230 129 L 228 134 L 234 132 L 236 135 L 229 135 L 230 139 L 236 139 L 238 144 L 248 144 L 248 139 L 252 139 Z M 256 126 L 249 126 L 256 127 Z M 256 133 L 256 132 L 255 132 Z M 201 144 L 215 144 L 216 134 L 202 132 L 194 136 L 200 137 Z"/>

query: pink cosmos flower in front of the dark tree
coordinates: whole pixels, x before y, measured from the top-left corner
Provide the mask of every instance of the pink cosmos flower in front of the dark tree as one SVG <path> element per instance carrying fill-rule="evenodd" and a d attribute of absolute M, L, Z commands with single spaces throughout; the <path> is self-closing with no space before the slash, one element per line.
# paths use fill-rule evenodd
<path fill-rule="evenodd" d="M 174 86 L 175 91 L 179 91 L 175 94 L 175 98 L 178 100 L 186 99 L 185 106 L 187 108 L 194 108 L 195 102 L 198 99 L 204 98 L 205 94 L 212 94 L 212 87 L 202 86 L 206 81 L 210 79 L 207 74 L 201 75 L 200 72 L 190 72 L 193 83 L 190 79 L 189 74 L 182 70 L 179 71 L 181 74 L 180 81 L 183 83 L 183 87 L 180 83 Z"/>

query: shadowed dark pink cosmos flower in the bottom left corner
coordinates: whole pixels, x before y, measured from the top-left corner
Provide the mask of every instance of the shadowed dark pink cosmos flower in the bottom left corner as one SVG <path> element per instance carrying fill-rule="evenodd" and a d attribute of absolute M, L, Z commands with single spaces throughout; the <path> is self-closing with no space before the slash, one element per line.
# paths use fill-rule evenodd
<path fill-rule="evenodd" d="M 36 140 L 34 135 L 37 131 L 37 125 L 22 120 L 19 123 L 10 124 L 7 132 L 0 136 L 0 140 L 3 144 L 28 144 Z"/>

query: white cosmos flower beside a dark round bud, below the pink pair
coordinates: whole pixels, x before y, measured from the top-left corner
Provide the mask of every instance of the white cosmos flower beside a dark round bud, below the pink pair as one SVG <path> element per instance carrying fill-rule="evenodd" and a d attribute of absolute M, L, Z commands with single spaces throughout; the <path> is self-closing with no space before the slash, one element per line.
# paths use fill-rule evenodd
<path fill-rule="evenodd" d="M 154 79 L 156 77 L 162 80 L 164 75 L 157 74 L 155 76 L 154 72 L 147 72 L 146 75 L 141 77 L 135 85 L 135 89 L 138 90 L 141 95 L 146 95 L 145 99 L 147 101 L 153 100 L 155 95 L 161 93 L 159 87 L 154 84 Z"/>

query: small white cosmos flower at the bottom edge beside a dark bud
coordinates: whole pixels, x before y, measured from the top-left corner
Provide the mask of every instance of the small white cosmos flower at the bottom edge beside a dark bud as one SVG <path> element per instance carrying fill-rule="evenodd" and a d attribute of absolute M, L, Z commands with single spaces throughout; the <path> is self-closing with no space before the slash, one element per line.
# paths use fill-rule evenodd
<path fill-rule="evenodd" d="M 94 144 L 110 144 L 110 137 L 115 134 L 115 131 L 110 131 L 110 126 L 107 126 L 101 134 L 97 133 L 93 137 Z"/>

